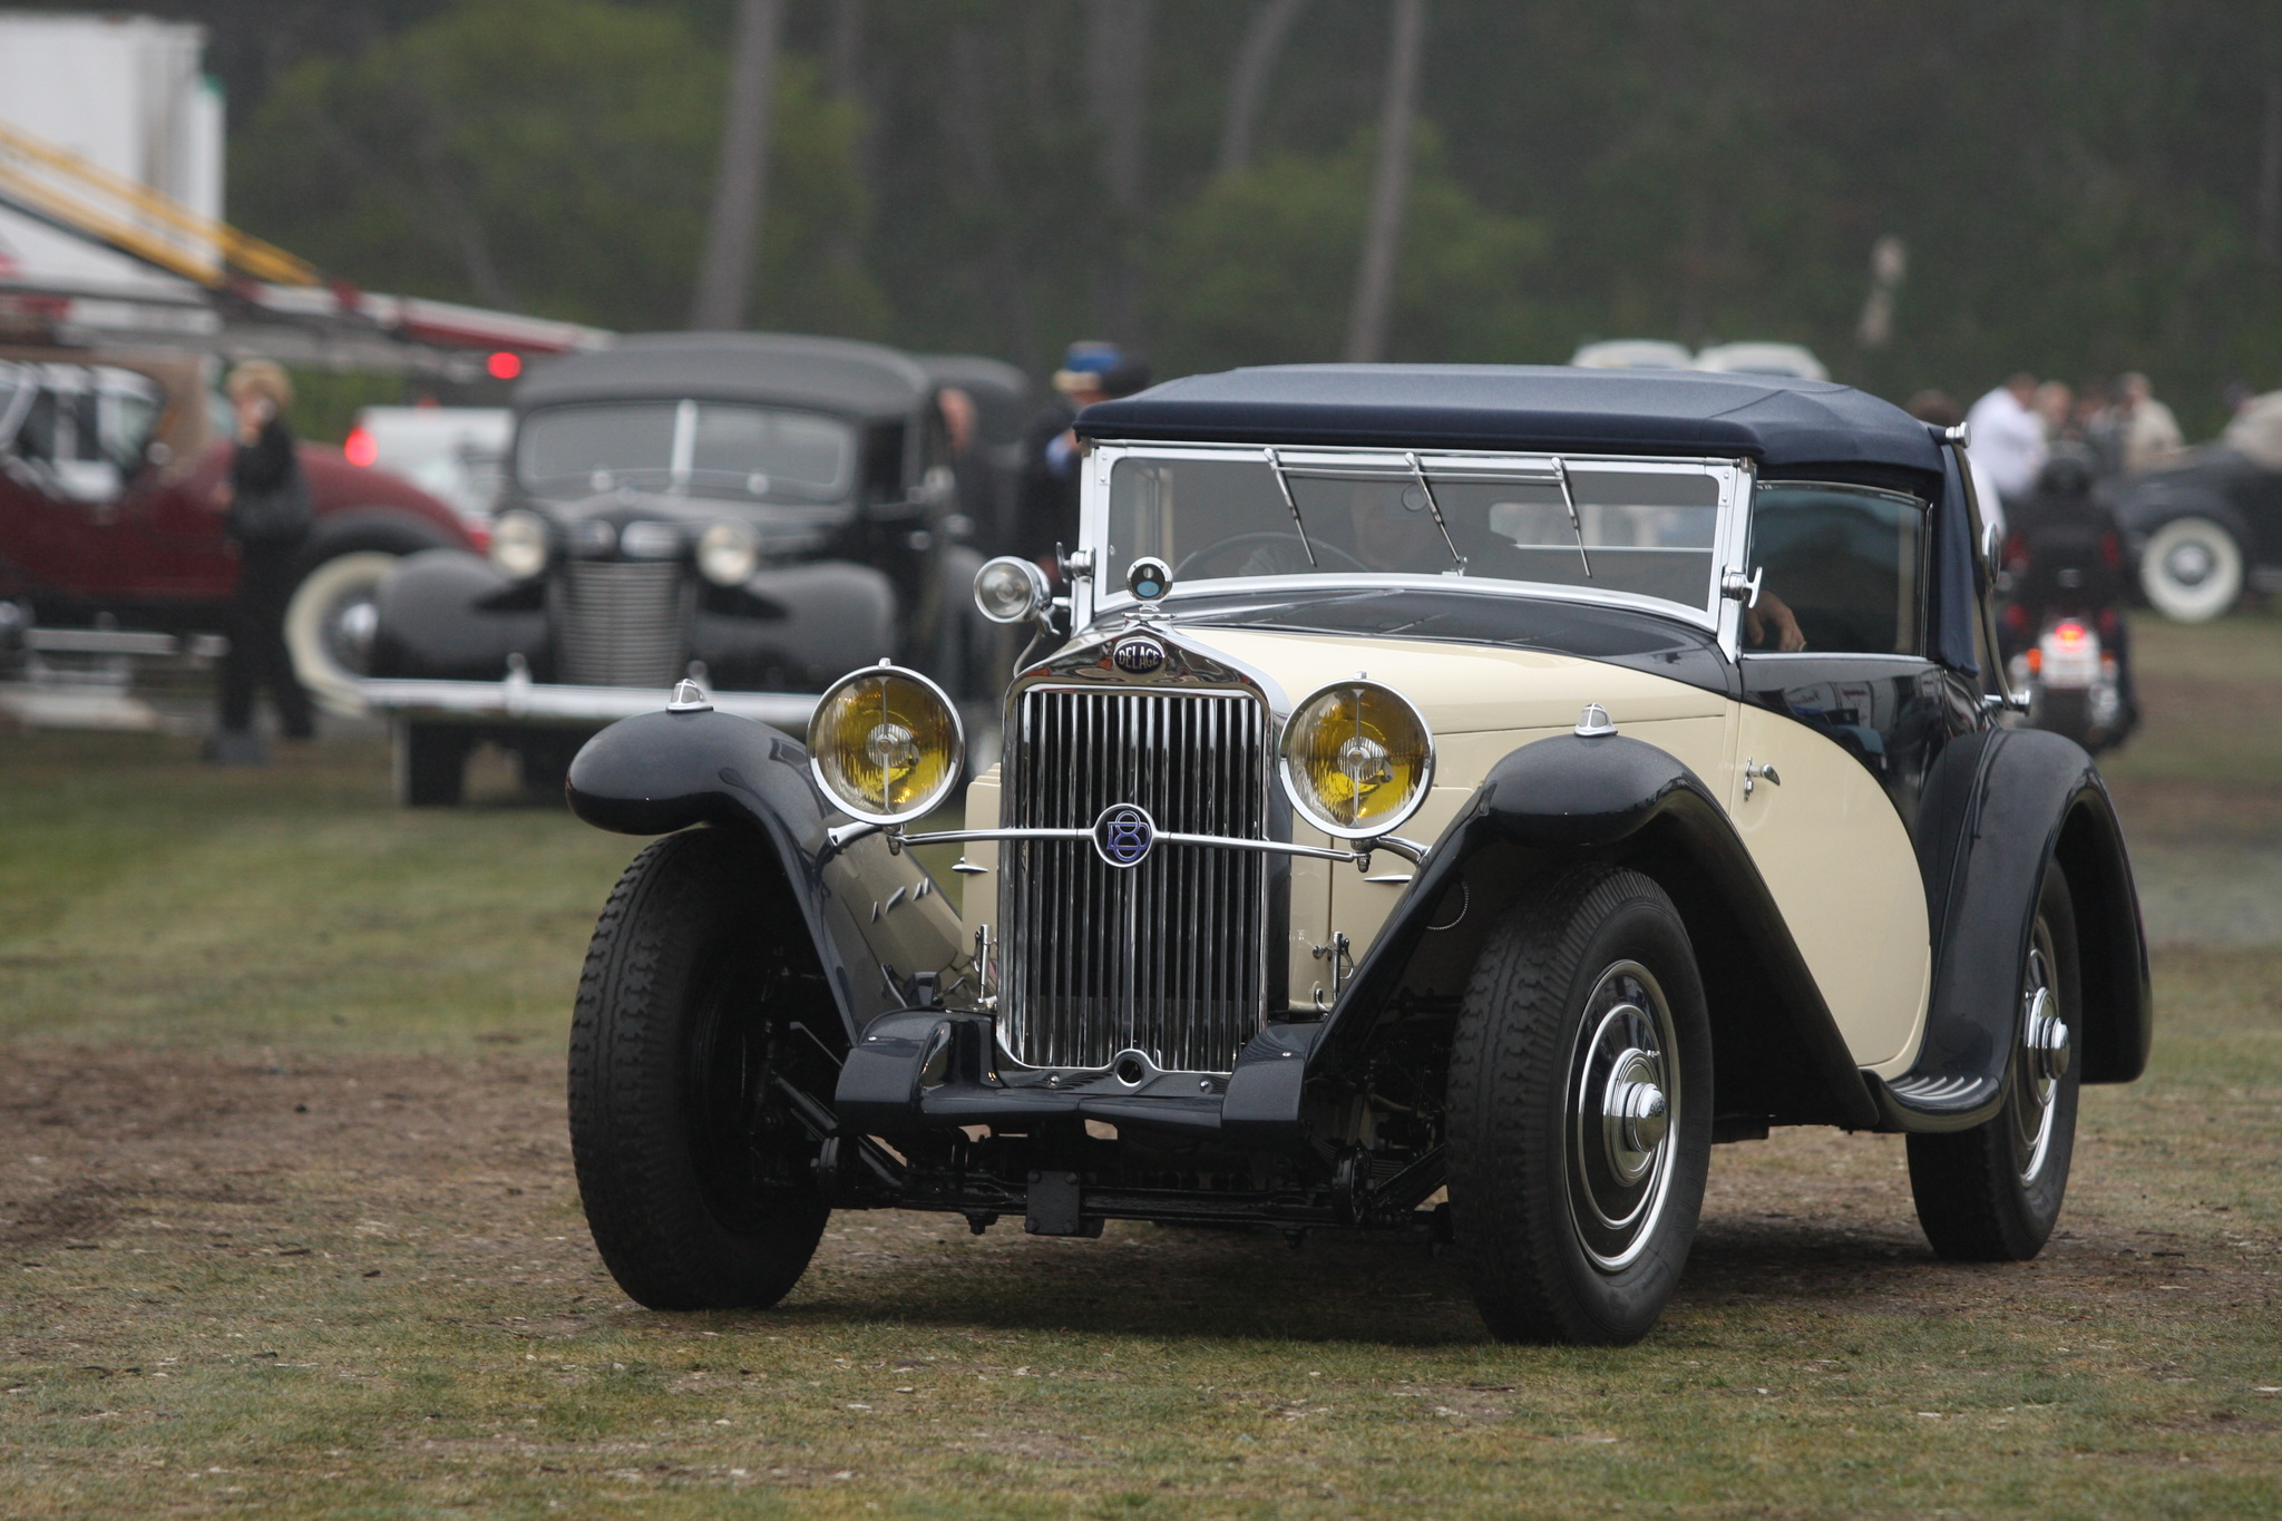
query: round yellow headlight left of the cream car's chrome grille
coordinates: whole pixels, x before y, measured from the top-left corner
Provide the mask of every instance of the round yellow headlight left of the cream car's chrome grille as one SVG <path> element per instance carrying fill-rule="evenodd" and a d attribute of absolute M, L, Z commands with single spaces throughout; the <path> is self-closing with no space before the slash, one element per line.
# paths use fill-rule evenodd
<path fill-rule="evenodd" d="M 833 682 L 808 718 L 808 766 L 856 819 L 901 823 L 958 782 L 965 734 L 942 689 L 915 670 L 867 666 Z"/>

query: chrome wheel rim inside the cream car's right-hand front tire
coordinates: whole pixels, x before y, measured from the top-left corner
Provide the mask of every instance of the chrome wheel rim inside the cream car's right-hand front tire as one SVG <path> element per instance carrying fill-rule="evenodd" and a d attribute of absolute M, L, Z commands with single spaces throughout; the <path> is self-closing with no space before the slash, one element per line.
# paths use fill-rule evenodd
<path fill-rule="evenodd" d="M 1570 1227 L 1595 1268 L 1620 1272 L 1654 1241 L 1680 1124 L 1673 1010 L 1648 967 L 1600 974 L 1568 1069 Z"/>

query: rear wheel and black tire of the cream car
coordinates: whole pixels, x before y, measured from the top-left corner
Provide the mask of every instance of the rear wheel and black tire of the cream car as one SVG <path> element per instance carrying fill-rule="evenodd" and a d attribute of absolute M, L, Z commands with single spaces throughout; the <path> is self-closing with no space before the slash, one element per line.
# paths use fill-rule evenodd
<path fill-rule="evenodd" d="M 2079 992 L 2077 912 L 2054 862 L 2045 867 L 2020 974 L 2004 1111 L 1969 1131 L 1910 1136 L 1917 1222 L 1951 1261 L 2029 1261 L 2061 1220 L 2077 1154 Z"/>

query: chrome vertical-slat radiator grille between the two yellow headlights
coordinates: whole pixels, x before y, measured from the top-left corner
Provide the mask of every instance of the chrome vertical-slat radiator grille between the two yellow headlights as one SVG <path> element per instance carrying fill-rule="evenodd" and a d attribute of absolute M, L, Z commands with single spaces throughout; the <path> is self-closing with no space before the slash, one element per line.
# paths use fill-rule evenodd
<path fill-rule="evenodd" d="M 1267 832 L 1267 711 L 1244 693 L 1022 693 L 1006 737 L 1006 828 L 1089 828 L 1146 807 L 1164 832 Z M 1031 1067 L 1228 1072 L 1260 1031 L 1260 851 L 1159 846 L 1134 869 L 1091 841 L 1009 844 L 1000 885 L 1000 1040 Z"/>

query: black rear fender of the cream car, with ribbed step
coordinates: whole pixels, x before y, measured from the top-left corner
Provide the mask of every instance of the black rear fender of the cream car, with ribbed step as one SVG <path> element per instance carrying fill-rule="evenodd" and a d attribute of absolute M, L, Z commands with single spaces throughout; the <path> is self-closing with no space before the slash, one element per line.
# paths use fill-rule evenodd
<path fill-rule="evenodd" d="M 2147 1069 L 2147 935 L 2115 803 L 2081 746 L 2047 730 L 1953 741 L 1926 778 L 1917 848 L 1935 926 L 1933 999 L 1910 1072 L 1862 1074 L 1885 1129 L 1963 1131 L 2004 1108 L 2020 969 L 2054 860 L 2077 905 L 2083 1081 L 2129 1083 Z"/>

